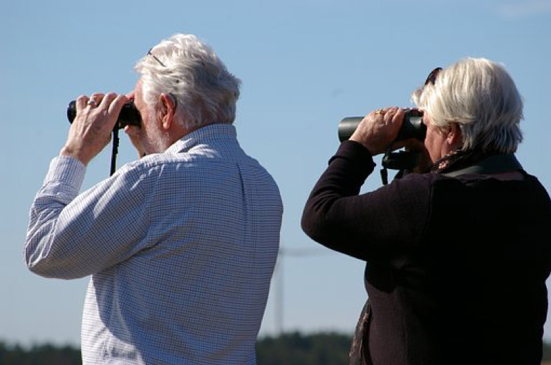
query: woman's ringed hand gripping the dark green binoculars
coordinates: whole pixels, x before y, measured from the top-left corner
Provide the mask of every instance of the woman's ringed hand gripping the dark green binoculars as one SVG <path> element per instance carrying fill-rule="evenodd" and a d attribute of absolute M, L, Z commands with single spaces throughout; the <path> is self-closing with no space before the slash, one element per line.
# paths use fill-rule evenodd
<path fill-rule="evenodd" d="M 379 155 L 389 148 L 400 148 L 392 146 L 398 136 L 404 120 L 403 108 L 383 108 L 370 112 L 357 126 L 351 141 L 363 144 L 371 152 L 371 155 Z"/>

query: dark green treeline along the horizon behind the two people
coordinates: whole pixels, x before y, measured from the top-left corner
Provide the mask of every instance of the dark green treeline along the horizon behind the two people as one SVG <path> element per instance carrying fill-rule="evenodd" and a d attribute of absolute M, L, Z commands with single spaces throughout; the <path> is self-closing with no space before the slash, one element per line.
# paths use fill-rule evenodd
<path fill-rule="evenodd" d="M 258 365 L 347 365 L 351 336 L 339 333 L 286 333 L 256 343 Z M 544 344 L 543 360 L 551 360 Z M 28 348 L 0 342 L 0 365 L 81 365 L 80 349 L 35 345 Z"/>

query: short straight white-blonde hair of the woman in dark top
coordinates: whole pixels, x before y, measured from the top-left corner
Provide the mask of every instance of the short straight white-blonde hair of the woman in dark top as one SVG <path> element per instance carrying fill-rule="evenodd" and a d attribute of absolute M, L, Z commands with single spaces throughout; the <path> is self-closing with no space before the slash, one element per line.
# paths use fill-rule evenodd
<path fill-rule="evenodd" d="M 452 64 L 411 99 L 442 130 L 457 123 L 463 150 L 511 153 L 523 139 L 521 95 L 505 68 L 488 59 L 469 57 Z"/>

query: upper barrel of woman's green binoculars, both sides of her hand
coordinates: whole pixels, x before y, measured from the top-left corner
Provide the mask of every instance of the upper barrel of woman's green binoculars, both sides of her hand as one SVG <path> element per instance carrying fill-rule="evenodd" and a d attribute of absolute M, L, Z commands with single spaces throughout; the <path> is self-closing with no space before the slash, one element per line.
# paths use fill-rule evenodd
<path fill-rule="evenodd" d="M 410 138 L 424 141 L 424 137 L 427 135 L 427 126 L 423 124 L 422 117 L 423 112 L 418 109 L 406 110 L 402 128 L 400 128 L 395 141 L 404 141 Z M 346 117 L 342 119 L 339 122 L 339 141 L 349 139 L 363 119 L 364 117 Z"/>

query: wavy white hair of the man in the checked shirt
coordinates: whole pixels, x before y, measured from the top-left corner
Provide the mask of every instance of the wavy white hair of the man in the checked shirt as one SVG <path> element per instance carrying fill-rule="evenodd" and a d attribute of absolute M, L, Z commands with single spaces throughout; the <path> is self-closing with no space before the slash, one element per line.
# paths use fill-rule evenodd
<path fill-rule="evenodd" d="M 234 122 L 241 80 L 194 35 L 174 34 L 161 41 L 138 61 L 136 70 L 150 110 L 158 108 L 162 92 L 170 94 L 183 128 Z"/>

